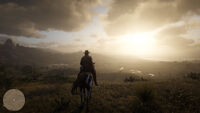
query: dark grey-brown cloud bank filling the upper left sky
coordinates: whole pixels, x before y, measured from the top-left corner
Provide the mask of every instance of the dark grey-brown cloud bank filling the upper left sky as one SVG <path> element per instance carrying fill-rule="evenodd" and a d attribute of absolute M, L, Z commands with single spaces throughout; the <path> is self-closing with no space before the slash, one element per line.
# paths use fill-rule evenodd
<path fill-rule="evenodd" d="M 1 0 L 0 33 L 43 37 L 40 31 L 77 31 L 92 19 L 98 0 Z"/>

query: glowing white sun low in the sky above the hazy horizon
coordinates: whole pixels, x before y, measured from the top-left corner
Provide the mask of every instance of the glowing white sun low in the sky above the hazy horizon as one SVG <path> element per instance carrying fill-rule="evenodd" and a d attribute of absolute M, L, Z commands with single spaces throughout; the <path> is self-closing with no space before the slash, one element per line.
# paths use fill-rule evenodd
<path fill-rule="evenodd" d="M 150 57 L 155 54 L 156 38 L 152 33 L 128 34 L 120 38 L 121 51 L 140 57 Z"/>

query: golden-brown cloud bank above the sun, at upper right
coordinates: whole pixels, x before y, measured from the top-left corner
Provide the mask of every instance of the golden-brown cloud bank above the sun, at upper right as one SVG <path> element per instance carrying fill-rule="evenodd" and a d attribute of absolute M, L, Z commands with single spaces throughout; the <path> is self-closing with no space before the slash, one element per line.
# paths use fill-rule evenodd
<path fill-rule="evenodd" d="M 146 32 L 200 14 L 199 0 L 113 0 L 105 17 L 109 35 Z"/>

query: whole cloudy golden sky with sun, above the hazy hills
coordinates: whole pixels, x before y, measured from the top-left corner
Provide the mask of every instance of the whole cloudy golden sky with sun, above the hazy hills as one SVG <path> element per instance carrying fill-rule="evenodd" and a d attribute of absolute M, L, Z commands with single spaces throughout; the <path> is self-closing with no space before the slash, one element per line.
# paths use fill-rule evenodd
<path fill-rule="evenodd" d="M 199 0 L 1 0 L 0 41 L 60 52 L 200 58 Z"/>

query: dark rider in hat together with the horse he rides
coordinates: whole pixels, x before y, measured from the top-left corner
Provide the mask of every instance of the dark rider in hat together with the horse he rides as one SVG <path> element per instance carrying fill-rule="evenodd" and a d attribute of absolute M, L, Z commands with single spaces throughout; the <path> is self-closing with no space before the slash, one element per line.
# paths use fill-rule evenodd
<path fill-rule="evenodd" d="M 94 63 L 92 61 L 92 57 L 89 56 L 88 50 L 85 50 L 85 55 L 81 58 L 80 65 L 81 65 L 80 72 L 78 74 L 76 81 L 74 81 L 72 85 L 71 93 L 72 95 L 74 95 L 77 93 L 77 88 L 80 89 L 80 97 L 81 97 L 80 108 L 82 109 L 84 104 L 86 104 L 86 111 L 88 111 L 88 102 L 91 99 L 91 93 L 92 93 L 92 84 L 93 84 L 92 78 L 94 79 L 95 85 L 96 86 L 98 85 L 96 81 L 96 71 L 94 68 Z"/>

